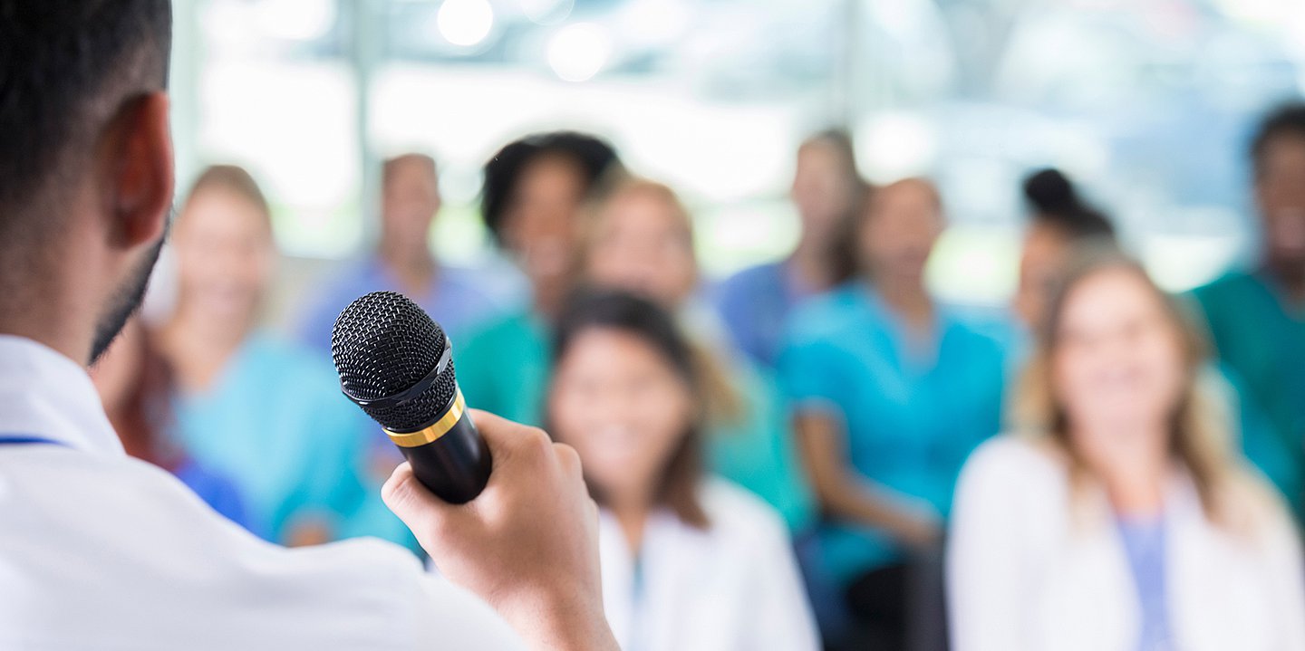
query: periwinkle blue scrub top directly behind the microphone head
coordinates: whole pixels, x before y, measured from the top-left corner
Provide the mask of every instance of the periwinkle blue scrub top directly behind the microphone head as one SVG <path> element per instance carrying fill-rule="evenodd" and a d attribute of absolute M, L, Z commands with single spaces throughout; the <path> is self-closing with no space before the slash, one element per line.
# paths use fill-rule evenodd
<path fill-rule="evenodd" d="M 487 271 L 488 273 L 488 271 Z M 449 337 L 497 314 L 502 303 L 491 297 L 491 282 L 480 282 L 478 271 L 441 266 L 435 283 L 423 295 L 408 296 L 436 320 Z M 399 291 L 399 283 L 376 257 L 355 262 L 322 284 L 316 300 L 304 310 L 298 326 L 299 339 L 320 351 L 330 351 L 330 331 L 354 299 L 373 291 Z"/>

